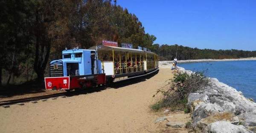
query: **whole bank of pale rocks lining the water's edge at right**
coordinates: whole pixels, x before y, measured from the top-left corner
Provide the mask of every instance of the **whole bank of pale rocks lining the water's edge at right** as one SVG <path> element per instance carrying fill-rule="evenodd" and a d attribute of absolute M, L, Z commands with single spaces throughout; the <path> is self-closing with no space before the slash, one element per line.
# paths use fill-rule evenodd
<path fill-rule="evenodd" d="M 182 67 L 177 69 L 192 73 Z M 195 132 L 256 133 L 256 103 L 216 78 L 209 80 L 209 87 L 191 93 L 188 98 L 187 104 L 192 113 L 191 124 Z"/>

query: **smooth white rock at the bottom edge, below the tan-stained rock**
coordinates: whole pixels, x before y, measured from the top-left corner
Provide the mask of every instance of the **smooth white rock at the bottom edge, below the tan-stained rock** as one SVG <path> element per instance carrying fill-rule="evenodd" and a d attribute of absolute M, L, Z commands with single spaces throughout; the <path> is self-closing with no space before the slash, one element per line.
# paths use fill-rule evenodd
<path fill-rule="evenodd" d="M 243 126 L 237 126 L 227 121 L 216 121 L 207 126 L 208 133 L 252 133 Z"/>

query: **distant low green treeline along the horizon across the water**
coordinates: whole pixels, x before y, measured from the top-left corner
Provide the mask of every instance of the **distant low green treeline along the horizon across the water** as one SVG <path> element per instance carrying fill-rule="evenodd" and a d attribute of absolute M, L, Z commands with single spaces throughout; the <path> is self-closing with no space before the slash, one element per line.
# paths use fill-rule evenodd
<path fill-rule="evenodd" d="M 151 51 L 160 55 L 161 61 L 171 61 L 176 57 L 178 60 L 196 60 L 196 59 L 230 59 L 230 58 L 247 58 L 256 57 L 256 51 L 243 50 L 213 50 L 198 49 L 179 45 L 159 45 L 151 46 Z"/>

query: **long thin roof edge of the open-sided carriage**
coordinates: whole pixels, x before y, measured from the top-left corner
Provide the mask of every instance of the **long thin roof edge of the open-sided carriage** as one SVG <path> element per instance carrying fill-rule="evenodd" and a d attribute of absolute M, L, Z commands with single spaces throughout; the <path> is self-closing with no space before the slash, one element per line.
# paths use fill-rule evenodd
<path fill-rule="evenodd" d="M 89 49 L 96 49 L 96 46 L 92 46 Z M 116 50 L 116 51 L 121 51 L 121 52 L 146 52 L 146 53 L 150 53 L 150 54 L 155 54 L 154 52 L 143 51 L 141 49 L 130 49 L 130 48 L 122 48 L 122 47 L 116 47 L 116 46 L 104 46 L 104 45 L 99 45 L 98 50 Z"/>

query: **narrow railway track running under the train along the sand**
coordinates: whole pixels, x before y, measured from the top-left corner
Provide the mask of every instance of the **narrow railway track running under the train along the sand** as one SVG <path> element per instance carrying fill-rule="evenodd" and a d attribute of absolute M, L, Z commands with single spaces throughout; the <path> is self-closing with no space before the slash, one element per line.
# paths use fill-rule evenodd
<path fill-rule="evenodd" d="M 154 72 L 152 72 L 152 73 L 154 73 Z M 140 82 L 140 81 L 143 81 L 144 79 L 146 79 L 146 78 L 142 78 L 142 77 L 149 78 L 152 76 L 154 76 L 154 75 L 141 75 L 138 77 L 132 77 L 132 78 L 128 78 L 125 80 L 116 81 L 116 82 L 113 82 L 113 84 L 108 85 L 108 86 L 94 87 L 94 88 L 88 89 L 88 90 L 70 91 L 70 92 L 57 93 L 57 94 L 51 94 L 51 95 L 40 95 L 40 96 L 29 97 L 29 98 L 20 98 L 20 99 L 14 99 L 14 100 L 0 101 L 0 106 L 8 108 L 8 107 L 10 107 L 10 105 L 13 105 L 13 104 L 24 105 L 24 103 L 26 103 L 26 102 L 37 103 L 37 101 L 39 101 L 39 100 L 44 100 L 44 99 L 49 99 L 49 98 L 57 98 L 60 96 L 66 97 L 66 96 L 74 96 L 74 95 L 80 95 L 80 94 L 85 94 L 85 93 L 93 93 L 96 91 L 105 90 L 109 87 L 110 88 L 119 88 L 119 87 L 126 86 L 128 84 L 135 84 L 137 82 Z"/>

